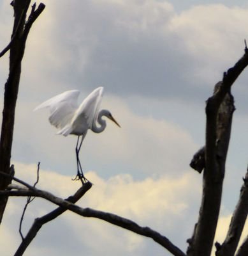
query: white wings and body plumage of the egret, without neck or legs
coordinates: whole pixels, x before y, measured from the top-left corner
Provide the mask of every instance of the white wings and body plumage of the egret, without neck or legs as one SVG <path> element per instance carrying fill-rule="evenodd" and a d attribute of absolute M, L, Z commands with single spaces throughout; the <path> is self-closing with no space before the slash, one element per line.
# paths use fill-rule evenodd
<path fill-rule="evenodd" d="M 78 106 L 78 90 L 71 90 L 61 93 L 51 99 L 41 103 L 34 111 L 41 108 L 49 108 L 50 124 L 59 129 L 57 134 L 82 135 L 86 134 L 88 129 L 98 118 L 99 105 L 103 97 L 103 87 L 96 88 L 85 100 Z"/>

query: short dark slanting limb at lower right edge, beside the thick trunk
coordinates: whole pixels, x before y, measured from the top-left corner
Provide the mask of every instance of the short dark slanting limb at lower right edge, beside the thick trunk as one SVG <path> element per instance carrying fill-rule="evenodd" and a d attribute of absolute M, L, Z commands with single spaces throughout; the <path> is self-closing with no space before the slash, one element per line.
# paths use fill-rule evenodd
<path fill-rule="evenodd" d="M 248 168 L 244 178 L 244 184 L 240 190 L 240 198 L 233 212 L 230 227 L 224 243 L 216 245 L 216 256 L 233 256 L 237 250 L 238 242 L 242 234 L 248 212 Z"/>

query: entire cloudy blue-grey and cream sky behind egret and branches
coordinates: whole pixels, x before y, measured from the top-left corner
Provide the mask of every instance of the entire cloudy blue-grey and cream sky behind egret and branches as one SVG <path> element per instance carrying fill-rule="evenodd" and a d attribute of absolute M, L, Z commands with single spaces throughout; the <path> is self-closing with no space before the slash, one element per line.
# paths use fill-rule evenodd
<path fill-rule="evenodd" d="M 183 3 L 182 3 L 183 2 Z M 94 184 L 78 202 L 149 226 L 186 251 L 198 218 L 201 175 L 191 170 L 204 145 L 205 100 L 214 84 L 244 54 L 246 1 L 44 0 L 44 12 L 27 39 L 18 94 L 11 161 L 16 176 L 31 184 L 41 162 L 38 188 L 68 197 L 80 186 L 75 136 L 56 135 L 48 111 L 33 109 L 66 90 L 79 101 L 104 86 L 101 108 L 112 122 L 89 131 L 80 159 Z M 0 49 L 10 40 L 13 10 L 0 1 Z M 1 58 L 0 93 L 8 76 Z M 215 240 L 223 241 L 247 168 L 248 116 L 245 70 L 233 86 L 236 111 Z M 0 98 L 3 106 L 3 96 Z M 0 229 L 1 255 L 20 243 L 18 224 L 25 199 L 10 198 Z M 53 205 L 36 198 L 24 221 Z M 244 236 L 248 228 L 245 228 Z M 3 250 L 3 249 L 2 249 Z M 41 228 L 29 255 L 164 255 L 151 239 L 99 220 L 66 213 Z"/>

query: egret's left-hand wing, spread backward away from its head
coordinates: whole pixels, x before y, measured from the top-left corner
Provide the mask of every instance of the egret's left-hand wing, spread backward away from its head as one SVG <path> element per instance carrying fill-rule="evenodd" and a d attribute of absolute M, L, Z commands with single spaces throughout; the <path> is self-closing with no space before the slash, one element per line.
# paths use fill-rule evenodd
<path fill-rule="evenodd" d="M 71 120 L 75 115 L 75 111 L 78 108 L 77 99 L 79 93 L 80 92 L 78 90 L 61 93 L 41 103 L 34 109 L 34 111 L 41 108 L 49 108 L 50 124 L 62 129 L 71 123 Z"/>

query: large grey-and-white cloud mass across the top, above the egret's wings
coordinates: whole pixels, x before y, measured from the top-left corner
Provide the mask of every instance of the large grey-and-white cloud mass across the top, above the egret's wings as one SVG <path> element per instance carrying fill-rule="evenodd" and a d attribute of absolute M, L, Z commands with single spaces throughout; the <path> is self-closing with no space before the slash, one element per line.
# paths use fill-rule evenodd
<path fill-rule="evenodd" d="M 244 48 L 245 8 L 208 4 L 176 13 L 166 1 L 57 4 L 47 3 L 28 41 L 24 67 L 32 72 L 23 79 L 40 84 L 41 93 L 104 85 L 115 95 L 197 102 Z"/>

